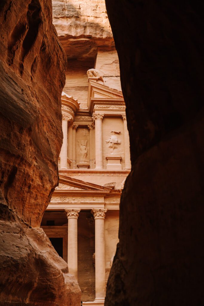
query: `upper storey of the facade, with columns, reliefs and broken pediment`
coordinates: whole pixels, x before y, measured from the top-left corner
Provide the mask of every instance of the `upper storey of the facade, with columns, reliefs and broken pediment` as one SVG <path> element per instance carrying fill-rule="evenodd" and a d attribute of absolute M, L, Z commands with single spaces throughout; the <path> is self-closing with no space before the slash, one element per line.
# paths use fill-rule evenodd
<path fill-rule="evenodd" d="M 87 71 L 87 107 L 62 92 L 63 145 L 59 169 L 130 170 L 129 134 L 122 92 L 96 69 Z"/>

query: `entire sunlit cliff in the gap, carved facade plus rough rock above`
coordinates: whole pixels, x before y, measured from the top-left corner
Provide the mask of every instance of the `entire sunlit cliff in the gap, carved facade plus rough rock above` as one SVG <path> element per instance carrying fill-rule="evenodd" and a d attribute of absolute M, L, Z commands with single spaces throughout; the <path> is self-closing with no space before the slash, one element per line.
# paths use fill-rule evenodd
<path fill-rule="evenodd" d="M 105 1 L 62 2 L 53 0 L 53 23 L 68 58 L 63 144 L 59 185 L 41 227 L 77 279 L 83 305 L 97 306 L 104 304 L 118 243 L 129 135 Z"/>

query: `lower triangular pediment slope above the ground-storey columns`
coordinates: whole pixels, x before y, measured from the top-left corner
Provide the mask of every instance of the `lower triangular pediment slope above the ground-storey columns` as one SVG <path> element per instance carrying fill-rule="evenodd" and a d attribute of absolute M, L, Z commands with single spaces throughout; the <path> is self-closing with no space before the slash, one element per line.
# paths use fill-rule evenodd
<path fill-rule="evenodd" d="M 55 188 L 55 191 L 59 190 L 101 190 L 110 191 L 111 187 L 101 186 L 93 183 L 88 183 L 82 180 L 77 180 L 72 177 L 67 177 L 64 175 L 59 175 L 59 186 Z"/>

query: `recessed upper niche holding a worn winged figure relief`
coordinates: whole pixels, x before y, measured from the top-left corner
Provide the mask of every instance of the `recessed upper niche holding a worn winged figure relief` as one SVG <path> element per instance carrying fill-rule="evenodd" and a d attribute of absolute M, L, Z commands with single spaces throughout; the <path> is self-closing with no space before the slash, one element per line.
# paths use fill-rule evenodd
<path fill-rule="evenodd" d="M 90 166 L 90 141 L 87 127 L 78 127 L 76 130 L 76 165 L 78 169 L 88 169 Z"/>

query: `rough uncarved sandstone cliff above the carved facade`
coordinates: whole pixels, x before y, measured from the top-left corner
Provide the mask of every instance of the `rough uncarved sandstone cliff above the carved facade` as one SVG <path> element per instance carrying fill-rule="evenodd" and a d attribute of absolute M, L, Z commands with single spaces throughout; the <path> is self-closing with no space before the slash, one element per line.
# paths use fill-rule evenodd
<path fill-rule="evenodd" d="M 104 84 L 121 90 L 117 52 L 105 0 L 52 0 L 53 24 L 69 65 L 64 91 L 87 106 L 87 70 L 95 68 Z"/>

